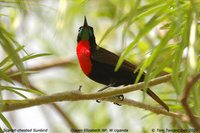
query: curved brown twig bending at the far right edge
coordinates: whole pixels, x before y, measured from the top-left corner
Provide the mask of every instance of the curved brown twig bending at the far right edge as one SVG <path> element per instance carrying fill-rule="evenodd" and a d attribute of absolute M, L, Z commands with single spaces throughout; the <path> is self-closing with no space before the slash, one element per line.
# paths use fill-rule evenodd
<path fill-rule="evenodd" d="M 189 77 L 188 78 L 188 82 L 185 86 L 185 89 L 184 89 L 184 93 L 183 93 L 183 96 L 181 98 L 181 102 L 182 102 L 182 105 L 183 105 L 183 108 L 185 109 L 186 111 L 186 114 L 188 115 L 189 119 L 190 119 L 190 122 L 191 124 L 197 128 L 197 129 L 200 129 L 200 125 L 197 121 L 197 119 L 194 117 L 188 103 L 187 103 L 187 99 L 190 95 L 190 91 L 192 90 L 192 87 L 194 86 L 194 84 L 200 79 L 200 74 L 197 74 L 196 76 L 194 77 Z"/>

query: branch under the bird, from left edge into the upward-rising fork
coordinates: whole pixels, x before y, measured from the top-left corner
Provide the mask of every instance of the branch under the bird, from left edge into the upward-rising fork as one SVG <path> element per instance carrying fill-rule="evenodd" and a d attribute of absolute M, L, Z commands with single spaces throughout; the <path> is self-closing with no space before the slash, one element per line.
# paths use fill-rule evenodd
<path fill-rule="evenodd" d="M 148 87 L 166 82 L 171 78 L 171 75 L 165 75 L 149 82 Z M 121 95 L 131 91 L 136 91 L 142 89 L 144 82 L 140 82 L 133 85 L 128 85 L 125 87 L 116 88 L 115 90 L 103 91 L 98 93 L 82 94 L 78 91 L 74 92 L 61 92 L 53 95 L 41 96 L 35 99 L 26 100 L 4 100 L 2 104 L 4 105 L 3 111 L 11 111 L 15 109 L 47 104 L 56 101 L 77 101 L 77 100 L 95 100 L 107 97 L 112 97 L 116 95 Z"/>

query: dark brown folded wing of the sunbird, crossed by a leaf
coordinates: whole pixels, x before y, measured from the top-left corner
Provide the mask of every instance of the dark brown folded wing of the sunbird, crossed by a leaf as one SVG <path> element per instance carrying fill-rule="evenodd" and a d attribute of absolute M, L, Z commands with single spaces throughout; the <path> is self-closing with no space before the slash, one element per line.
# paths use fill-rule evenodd
<path fill-rule="evenodd" d="M 116 66 L 118 60 L 119 60 L 119 56 L 104 49 L 101 47 L 98 47 L 97 50 L 95 52 L 92 53 L 91 58 L 94 61 L 100 62 L 100 63 L 105 63 L 105 64 L 109 64 L 111 66 Z M 124 62 L 122 63 L 120 69 L 126 69 L 129 71 L 134 71 L 136 69 L 136 66 L 131 64 L 130 62 L 124 60 Z"/>

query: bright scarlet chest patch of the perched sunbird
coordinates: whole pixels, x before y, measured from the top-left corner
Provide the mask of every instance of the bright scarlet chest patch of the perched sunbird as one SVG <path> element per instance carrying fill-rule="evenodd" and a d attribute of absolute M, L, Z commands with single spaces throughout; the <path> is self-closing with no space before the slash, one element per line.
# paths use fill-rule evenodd
<path fill-rule="evenodd" d="M 81 69 L 86 75 L 89 75 L 92 69 L 89 41 L 81 40 L 76 47 L 76 54 L 78 56 L 78 61 Z"/>

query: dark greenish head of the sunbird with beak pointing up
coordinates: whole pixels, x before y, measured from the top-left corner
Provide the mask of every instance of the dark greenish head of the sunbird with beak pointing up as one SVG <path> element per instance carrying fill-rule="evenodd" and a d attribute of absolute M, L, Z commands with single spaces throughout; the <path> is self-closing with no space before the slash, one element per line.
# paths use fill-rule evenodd
<path fill-rule="evenodd" d="M 94 36 L 93 28 L 87 24 L 87 19 L 85 17 L 84 24 L 79 28 L 78 31 L 77 41 L 79 42 L 80 40 L 89 40 L 93 36 Z"/>

